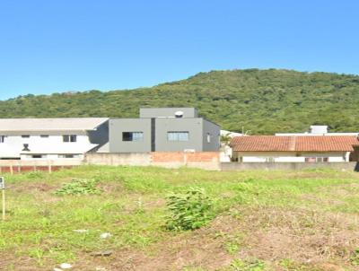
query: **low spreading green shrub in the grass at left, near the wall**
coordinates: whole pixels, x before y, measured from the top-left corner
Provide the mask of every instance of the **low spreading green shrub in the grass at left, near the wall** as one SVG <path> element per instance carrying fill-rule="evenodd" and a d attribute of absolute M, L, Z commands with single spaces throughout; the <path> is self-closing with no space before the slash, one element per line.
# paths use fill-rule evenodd
<path fill-rule="evenodd" d="M 96 188 L 95 179 L 73 179 L 57 189 L 56 195 L 88 195 L 98 194 L 100 191 Z"/>

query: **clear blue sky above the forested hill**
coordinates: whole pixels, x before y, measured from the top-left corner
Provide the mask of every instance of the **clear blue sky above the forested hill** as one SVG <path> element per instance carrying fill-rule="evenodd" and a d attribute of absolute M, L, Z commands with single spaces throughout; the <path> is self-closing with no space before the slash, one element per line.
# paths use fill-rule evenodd
<path fill-rule="evenodd" d="M 0 0 L 0 99 L 198 72 L 359 74 L 359 1 Z"/>

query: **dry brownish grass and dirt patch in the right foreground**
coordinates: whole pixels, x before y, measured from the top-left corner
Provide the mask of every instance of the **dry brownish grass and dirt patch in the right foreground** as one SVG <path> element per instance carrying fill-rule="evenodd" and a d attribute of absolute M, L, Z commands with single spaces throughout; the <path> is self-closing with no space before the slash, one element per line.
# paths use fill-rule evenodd
<path fill-rule="evenodd" d="M 237 213 L 242 214 L 240 219 L 220 216 L 206 228 L 169 236 L 147 249 L 151 254 L 117 251 L 109 270 L 217 270 L 235 258 L 259 258 L 273 263 L 275 270 L 283 270 L 279 263 L 285 258 L 322 270 L 355 270 L 350 254 L 359 247 L 359 231 L 357 226 L 353 228 L 356 222 L 351 216 L 273 208 L 241 209 Z M 225 243 L 236 232 L 244 232 L 244 240 L 238 253 L 230 254 Z"/>

